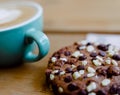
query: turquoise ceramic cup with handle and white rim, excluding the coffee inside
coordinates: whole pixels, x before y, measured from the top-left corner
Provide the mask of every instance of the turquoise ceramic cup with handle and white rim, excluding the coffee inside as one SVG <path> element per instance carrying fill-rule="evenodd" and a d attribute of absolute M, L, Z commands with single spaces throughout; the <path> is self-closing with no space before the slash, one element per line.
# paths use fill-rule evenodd
<path fill-rule="evenodd" d="M 36 3 L 29 4 L 37 9 L 34 17 L 24 23 L 0 29 L 0 67 L 16 66 L 24 61 L 35 62 L 49 51 L 49 39 L 42 32 L 43 9 Z M 38 46 L 38 54 L 33 53 L 34 43 Z"/>

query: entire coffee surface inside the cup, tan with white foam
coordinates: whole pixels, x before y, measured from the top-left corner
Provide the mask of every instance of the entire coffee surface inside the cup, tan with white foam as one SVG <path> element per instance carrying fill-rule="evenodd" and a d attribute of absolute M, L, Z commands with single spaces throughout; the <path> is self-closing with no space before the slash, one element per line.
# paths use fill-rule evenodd
<path fill-rule="evenodd" d="M 22 24 L 32 19 L 37 9 L 29 4 L 12 3 L 0 6 L 0 29 Z"/>

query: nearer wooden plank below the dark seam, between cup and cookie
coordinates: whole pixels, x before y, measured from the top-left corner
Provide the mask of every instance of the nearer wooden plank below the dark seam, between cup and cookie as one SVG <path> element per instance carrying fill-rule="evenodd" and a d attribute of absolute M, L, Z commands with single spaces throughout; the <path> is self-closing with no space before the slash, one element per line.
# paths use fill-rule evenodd
<path fill-rule="evenodd" d="M 47 33 L 49 54 L 41 61 L 17 68 L 0 69 L 0 95 L 53 95 L 45 83 L 45 69 L 51 54 L 60 47 L 85 38 L 85 34 Z"/>

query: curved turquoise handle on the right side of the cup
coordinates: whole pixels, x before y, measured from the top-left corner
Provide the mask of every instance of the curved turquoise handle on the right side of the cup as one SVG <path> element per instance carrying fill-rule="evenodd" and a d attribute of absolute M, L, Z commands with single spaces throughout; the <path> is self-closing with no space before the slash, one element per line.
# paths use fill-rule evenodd
<path fill-rule="evenodd" d="M 28 62 L 38 61 L 42 59 L 45 55 L 47 55 L 50 48 L 50 42 L 48 37 L 43 32 L 32 29 L 26 32 L 25 39 L 32 39 L 33 41 L 35 41 L 39 50 L 38 55 L 33 54 L 32 50 L 30 49 L 30 44 L 28 44 L 25 47 L 24 53 L 25 61 Z"/>

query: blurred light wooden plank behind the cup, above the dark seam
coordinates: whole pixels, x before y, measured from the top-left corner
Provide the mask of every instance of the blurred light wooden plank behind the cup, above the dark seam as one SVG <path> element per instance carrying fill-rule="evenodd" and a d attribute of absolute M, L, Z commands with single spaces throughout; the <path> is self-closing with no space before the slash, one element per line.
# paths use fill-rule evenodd
<path fill-rule="evenodd" d="M 118 33 L 120 31 L 120 0 L 31 1 L 38 2 L 44 8 L 45 31 Z"/>

